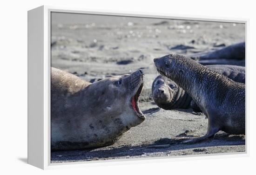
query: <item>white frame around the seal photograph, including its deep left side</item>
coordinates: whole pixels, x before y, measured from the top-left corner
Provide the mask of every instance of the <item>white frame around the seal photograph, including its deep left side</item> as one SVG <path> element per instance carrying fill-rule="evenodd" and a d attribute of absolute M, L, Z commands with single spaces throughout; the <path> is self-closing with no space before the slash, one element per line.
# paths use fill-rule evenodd
<path fill-rule="evenodd" d="M 50 66 L 51 66 L 51 12 L 63 13 L 85 13 L 102 15 L 119 15 L 133 17 L 150 17 L 162 19 L 189 19 L 207 20 L 219 22 L 234 22 L 245 24 L 245 42 L 248 35 L 248 19 L 226 19 L 194 15 L 169 15 L 152 13 L 130 13 L 101 11 L 91 12 L 86 9 L 61 8 L 55 6 L 40 6 L 28 11 L 28 163 L 40 169 L 54 169 L 69 166 L 86 166 L 91 163 L 124 163 L 127 161 L 175 161 L 178 159 L 205 159 L 248 156 L 247 135 L 249 130 L 248 117 L 246 116 L 246 151 L 242 153 L 217 154 L 217 155 L 194 155 L 194 156 L 175 156 L 175 157 L 152 157 L 145 159 L 126 159 L 126 160 L 107 160 L 96 162 L 70 162 L 70 163 L 51 163 L 50 162 Z M 247 42 L 246 42 L 247 44 Z M 247 45 L 246 45 L 247 47 Z M 246 49 L 247 58 L 247 49 Z M 248 65 L 248 59 L 246 59 Z M 247 73 L 247 72 L 246 72 Z M 246 87 L 246 92 L 247 87 Z M 246 93 L 246 102 L 248 101 Z M 247 103 L 246 103 L 247 104 Z M 248 113 L 246 105 L 246 114 Z M 132 162 L 130 162 L 132 163 Z"/>

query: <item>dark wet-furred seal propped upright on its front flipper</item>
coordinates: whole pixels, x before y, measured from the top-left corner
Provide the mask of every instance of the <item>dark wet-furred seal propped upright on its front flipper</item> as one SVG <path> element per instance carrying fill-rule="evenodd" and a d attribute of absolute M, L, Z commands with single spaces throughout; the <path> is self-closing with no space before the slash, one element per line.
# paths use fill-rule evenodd
<path fill-rule="evenodd" d="M 245 134 L 245 84 L 182 55 L 170 54 L 154 62 L 157 71 L 182 87 L 208 117 L 206 135 L 184 143 L 213 137 L 219 130 Z"/>

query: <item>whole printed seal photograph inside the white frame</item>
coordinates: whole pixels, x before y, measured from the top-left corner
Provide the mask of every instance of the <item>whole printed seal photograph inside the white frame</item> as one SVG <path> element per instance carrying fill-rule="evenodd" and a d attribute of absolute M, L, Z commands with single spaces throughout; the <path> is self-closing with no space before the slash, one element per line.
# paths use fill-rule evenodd
<path fill-rule="evenodd" d="M 51 162 L 245 152 L 245 24 L 51 13 Z"/>

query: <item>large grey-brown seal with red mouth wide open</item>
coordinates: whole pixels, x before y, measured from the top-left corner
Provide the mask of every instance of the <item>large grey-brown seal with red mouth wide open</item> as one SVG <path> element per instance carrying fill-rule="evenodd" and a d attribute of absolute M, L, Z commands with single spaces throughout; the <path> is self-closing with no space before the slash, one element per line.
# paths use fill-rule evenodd
<path fill-rule="evenodd" d="M 113 144 L 145 120 L 138 104 L 143 71 L 88 83 L 51 69 L 51 150 L 91 149 Z"/>

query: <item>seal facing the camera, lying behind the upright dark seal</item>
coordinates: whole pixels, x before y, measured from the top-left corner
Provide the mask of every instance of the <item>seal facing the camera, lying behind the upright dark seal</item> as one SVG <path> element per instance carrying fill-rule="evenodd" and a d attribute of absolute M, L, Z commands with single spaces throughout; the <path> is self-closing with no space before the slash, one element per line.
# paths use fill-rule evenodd
<path fill-rule="evenodd" d="M 245 83 L 245 67 L 243 66 L 207 65 L 206 67 L 233 81 Z M 196 112 L 201 111 L 187 92 L 173 80 L 161 75 L 157 76 L 152 84 L 152 96 L 155 103 L 165 110 L 192 108 Z"/>

